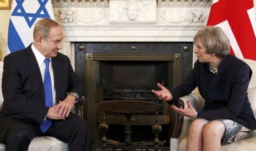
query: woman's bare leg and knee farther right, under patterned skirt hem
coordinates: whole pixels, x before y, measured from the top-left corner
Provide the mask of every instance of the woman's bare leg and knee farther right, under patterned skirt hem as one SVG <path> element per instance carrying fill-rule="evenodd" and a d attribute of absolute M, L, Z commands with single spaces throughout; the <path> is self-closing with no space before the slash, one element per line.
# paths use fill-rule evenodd
<path fill-rule="evenodd" d="M 221 148 L 221 139 L 225 135 L 225 125 L 221 120 L 213 120 L 204 126 L 203 150 L 218 151 Z"/>

